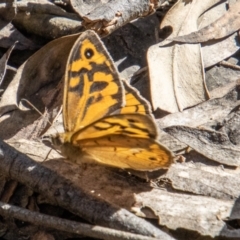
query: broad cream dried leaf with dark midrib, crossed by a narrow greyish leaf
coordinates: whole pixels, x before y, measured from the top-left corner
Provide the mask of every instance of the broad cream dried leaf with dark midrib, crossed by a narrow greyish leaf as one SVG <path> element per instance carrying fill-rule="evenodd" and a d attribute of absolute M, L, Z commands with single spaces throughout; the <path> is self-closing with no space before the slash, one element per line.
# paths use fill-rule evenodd
<path fill-rule="evenodd" d="M 197 30 L 198 17 L 216 0 L 178 1 L 165 16 L 161 28 L 172 26 L 171 37 Z M 167 45 L 163 41 L 148 51 L 154 110 L 178 112 L 208 99 L 199 45 Z"/>

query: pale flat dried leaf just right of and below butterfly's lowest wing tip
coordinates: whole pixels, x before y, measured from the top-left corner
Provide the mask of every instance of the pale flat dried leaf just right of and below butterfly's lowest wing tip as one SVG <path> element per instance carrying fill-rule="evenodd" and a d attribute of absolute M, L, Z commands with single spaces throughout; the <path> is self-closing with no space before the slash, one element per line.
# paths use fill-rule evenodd
<path fill-rule="evenodd" d="M 177 163 L 161 178 L 169 179 L 176 190 L 222 200 L 237 199 L 240 193 L 239 171 L 219 166 Z"/>

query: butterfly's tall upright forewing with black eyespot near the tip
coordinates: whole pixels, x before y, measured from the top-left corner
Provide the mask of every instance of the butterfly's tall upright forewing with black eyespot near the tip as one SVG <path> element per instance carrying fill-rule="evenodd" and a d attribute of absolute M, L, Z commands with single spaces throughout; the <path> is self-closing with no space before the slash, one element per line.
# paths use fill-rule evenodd
<path fill-rule="evenodd" d="M 64 127 L 83 128 L 124 105 L 124 88 L 111 57 L 93 31 L 75 42 L 64 86 Z"/>

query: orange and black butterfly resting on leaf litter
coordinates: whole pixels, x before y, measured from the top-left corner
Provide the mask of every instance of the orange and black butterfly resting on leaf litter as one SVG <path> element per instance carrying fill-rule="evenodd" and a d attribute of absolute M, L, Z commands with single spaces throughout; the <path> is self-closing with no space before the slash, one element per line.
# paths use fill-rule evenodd
<path fill-rule="evenodd" d="M 52 136 L 55 148 L 76 161 L 83 155 L 111 167 L 153 171 L 173 155 L 157 139 L 150 107 L 120 79 L 97 34 L 87 30 L 74 43 L 64 80 L 65 132 Z"/>

